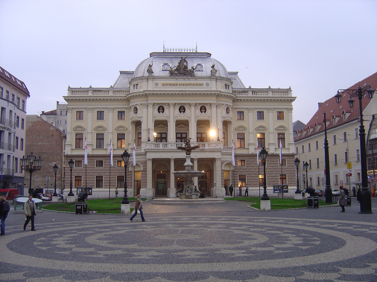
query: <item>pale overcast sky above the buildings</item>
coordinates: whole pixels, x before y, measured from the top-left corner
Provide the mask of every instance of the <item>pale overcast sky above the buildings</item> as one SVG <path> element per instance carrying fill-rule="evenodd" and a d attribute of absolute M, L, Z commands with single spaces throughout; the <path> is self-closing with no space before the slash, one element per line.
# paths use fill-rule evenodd
<path fill-rule="evenodd" d="M 293 119 L 377 71 L 376 0 L 0 0 L 0 65 L 25 82 L 28 114 L 67 87 L 109 87 L 165 47 L 209 52 L 245 86 L 288 88 Z"/>

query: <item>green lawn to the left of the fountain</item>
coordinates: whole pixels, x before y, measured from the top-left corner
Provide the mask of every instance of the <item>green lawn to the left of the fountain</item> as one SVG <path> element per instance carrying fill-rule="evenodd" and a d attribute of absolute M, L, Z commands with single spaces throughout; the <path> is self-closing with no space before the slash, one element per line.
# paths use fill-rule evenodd
<path fill-rule="evenodd" d="M 97 211 L 98 214 L 120 214 L 120 205 L 123 198 L 110 199 L 92 199 L 88 200 L 88 211 Z M 136 201 L 136 198 L 128 198 L 129 201 Z M 146 199 L 142 199 L 145 201 Z M 50 211 L 67 211 L 75 212 L 75 203 L 57 203 L 50 205 L 43 205 L 43 209 Z M 133 208 L 130 208 L 131 212 Z"/>

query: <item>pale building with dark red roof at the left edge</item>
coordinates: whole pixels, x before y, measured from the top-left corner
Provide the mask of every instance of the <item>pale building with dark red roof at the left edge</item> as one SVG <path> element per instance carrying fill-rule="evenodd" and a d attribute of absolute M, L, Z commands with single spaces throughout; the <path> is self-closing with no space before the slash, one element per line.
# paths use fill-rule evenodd
<path fill-rule="evenodd" d="M 0 67 L 0 185 L 23 191 L 20 159 L 25 154 L 26 99 L 24 82 Z"/>

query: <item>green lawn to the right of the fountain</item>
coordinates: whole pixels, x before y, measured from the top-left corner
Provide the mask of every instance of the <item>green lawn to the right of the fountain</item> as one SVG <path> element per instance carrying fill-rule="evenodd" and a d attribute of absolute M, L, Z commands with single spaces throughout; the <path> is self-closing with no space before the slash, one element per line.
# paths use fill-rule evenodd
<path fill-rule="evenodd" d="M 242 202 L 250 202 L 252 203 L 250 206 L 253 208 L 261 209 L 261 198 L 259 197 L 230 197 L 224 198 L 227 201 L 242 201 Z M 307 208 L 307 200 L 295 200 L 295 199 L 278 199 L 278 198 L 271 198 L 271 209 L 295 209 L 295 208 Z M 320 206 L 328 206 L 336 204 L 326 204 L 324 200 L 319 200 Z"/>

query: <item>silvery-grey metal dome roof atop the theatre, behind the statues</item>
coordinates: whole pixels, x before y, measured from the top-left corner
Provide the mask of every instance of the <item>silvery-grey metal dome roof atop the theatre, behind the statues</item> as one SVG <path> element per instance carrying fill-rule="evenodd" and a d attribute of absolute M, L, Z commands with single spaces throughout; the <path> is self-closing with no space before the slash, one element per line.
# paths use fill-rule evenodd
<path fill-rule="evenodd" d="M 170 76 L 170 68 L 178 65 L 184 58 L 187 67 L 196 67 L 195 76 L 211 76 L 211 66 L 215 64 L 216 76 L 229 78 L 228 71 L 221 62 L 211 58 L 210 53 L 205 52 L 153 52 L 150 57 L 142 61 L 135 69 L 133 77 L 148 76 L 147 68 L 152 65 L 153 76 Z"/>

